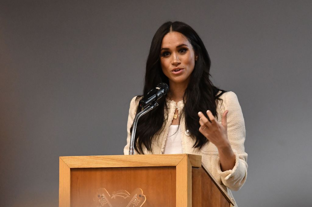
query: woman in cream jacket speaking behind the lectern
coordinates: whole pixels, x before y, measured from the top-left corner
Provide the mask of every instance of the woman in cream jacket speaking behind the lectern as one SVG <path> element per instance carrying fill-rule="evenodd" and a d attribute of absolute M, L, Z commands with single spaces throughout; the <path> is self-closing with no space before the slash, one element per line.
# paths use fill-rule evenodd
<path fill-rule="evenodd" d="M 159 106 L 142 116 L 135 136 L 139 154 L 199 154 L 217 181 L 239 190 L 247 176 L 245 123 L 236 94 L 209 80 L 210 58 L 197 33 L 183 22 L 166 22 L 155 33 L 146 63 L 144 94 L 158 83 L 169 85 Z M 143 96 L 130 103 L 132 123 Z M 230 196 L 231 191 L 228 190 Z"/>

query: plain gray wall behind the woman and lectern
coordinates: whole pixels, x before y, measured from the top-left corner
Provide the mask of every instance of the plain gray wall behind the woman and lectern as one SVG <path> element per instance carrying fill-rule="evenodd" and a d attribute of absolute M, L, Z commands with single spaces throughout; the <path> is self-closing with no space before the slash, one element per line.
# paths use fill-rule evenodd
<path fill-rule="evenodd" d="M 191 25 L 246 122 L 240 206 L 311 206 L 311 1 L 1 1 L 1 206 L 57 206 L 58 157 L 122 154 L 154 32 Z M 135 81 L 137 80 L 137 81 Z"/>

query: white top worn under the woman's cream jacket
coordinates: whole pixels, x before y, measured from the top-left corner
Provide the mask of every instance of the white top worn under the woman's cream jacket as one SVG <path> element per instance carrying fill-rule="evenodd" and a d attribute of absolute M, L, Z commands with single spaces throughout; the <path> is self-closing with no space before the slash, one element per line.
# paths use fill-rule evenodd
<path fill-rule="evenodd" d="M 170 125 L 168 138 L 165 143 L 163 154 L 182 154 L 181 131 L 179 125 Z"/>

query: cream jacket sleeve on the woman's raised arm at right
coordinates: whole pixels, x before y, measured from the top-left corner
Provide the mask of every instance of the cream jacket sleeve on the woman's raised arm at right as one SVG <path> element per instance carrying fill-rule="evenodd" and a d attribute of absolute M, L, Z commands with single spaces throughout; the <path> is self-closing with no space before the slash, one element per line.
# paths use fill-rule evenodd
<path fill-rule="evenodd" d="M 247 153 L 244 147 L 246 137 L 245 122 L 236 94 L 234 92 L 227 92 L 224 95 L 224 111 L 229 111 L 227 114 L 227 136 L 234 151 L 236 161 L 233 169 L 222 172 L 220 158 L 217 157 L 217 166 L 215 167 L 221 177 L 222 183 L 229 189 L 237 191 L 243 186 L 247 177 Z"/>

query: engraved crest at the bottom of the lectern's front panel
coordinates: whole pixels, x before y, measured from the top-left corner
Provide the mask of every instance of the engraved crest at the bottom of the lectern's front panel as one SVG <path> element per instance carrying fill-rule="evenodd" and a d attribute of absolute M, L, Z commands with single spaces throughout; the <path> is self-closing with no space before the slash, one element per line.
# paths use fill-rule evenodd
<path fill-rule="evenodd" d="M 105 188 L 100 188 L 93 198 L 96 207 L 141 207 L 146 201 L 146 196 L 141 188 L 136 188 L 130 194 L 128 191 L 119 190 L 110 195 Z"/>

